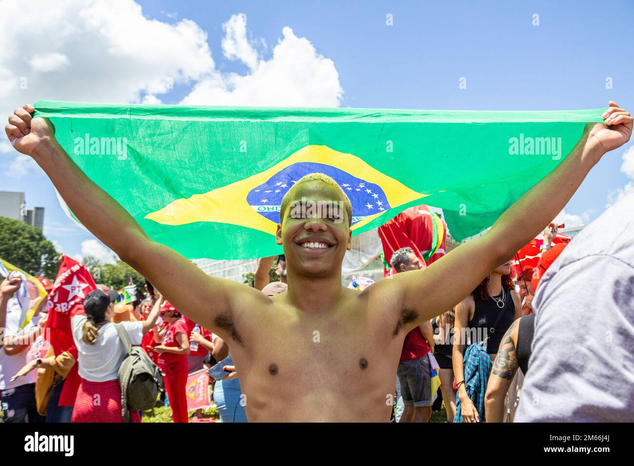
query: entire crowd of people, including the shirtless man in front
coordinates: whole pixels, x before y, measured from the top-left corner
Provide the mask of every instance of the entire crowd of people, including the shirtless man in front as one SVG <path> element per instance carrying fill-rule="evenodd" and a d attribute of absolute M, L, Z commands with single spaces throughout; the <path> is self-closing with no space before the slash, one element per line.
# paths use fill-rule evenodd
<path fill-rule="evenodd" d="M 341 264 L 351 249 L 352 207 L 332 178 L 308 174 L 288 191 L 276 232 L 285 254 L 261 259 L 247 287 L 209 277 L 148 240 L 72 164 L 46 121 L 31 120 L 32 111 L 25 106 L 10 118 L 15 148 L 36 159 L 82 223 L 156 290 L 148 287 L 124 308 L 113 304 L 117 293 L 97 287 L 70 320 L 72 341 L 51 352 L 37 343 L 51 315 L 39 309 L 20 328 L 10 304 L 20 278 L 4 280 L 5 422 L 41 421 L 44 413 L 49 422 L 120 422 L 122 331 L 159 366 L 174 422 L 189 419 L 188 373 L 228 356 L 226 377 L 214 386 L 223 422 L 243 422 L 247 414 L 251 422 L 388 415 L 429 422 L 437 399 L 448 422 L 632 420 L 634 192 L 568 245 L 552 247 L 553 217 L 600 157 L 630 139 L 632 118 L 613 102 L 605 125 L 589 125 L 570 155 L 487 233 L 446 255 L 437 235 L 424 250 L 404 233 L 411 245 L 384 249 L 385 278 L 357 278 L 349 287 L 342 287 Z M 288 208 L 302 197 L 342 203 L 347 222 Z M 512 268 L 508 259 L 540 232 L 537 266 Z M 275 261 L 280 281 L 268 283 Z M 35 342 L 16 344 L 15 335 Z M 53 369 L 58 382 L 45 407 L 36 368 Z M 141 416 L 135 411 L 131 420 Z"/>

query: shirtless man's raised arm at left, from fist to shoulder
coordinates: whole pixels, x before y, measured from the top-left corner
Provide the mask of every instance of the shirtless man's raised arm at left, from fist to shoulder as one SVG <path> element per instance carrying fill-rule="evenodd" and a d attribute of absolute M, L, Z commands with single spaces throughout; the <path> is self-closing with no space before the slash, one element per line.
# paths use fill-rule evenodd
<path fill-rule="evenodd" d="M 5 131 L 15 149 L 37 162 L 79 221 L 122 261 L 148 278 L 191 320 L 230 340 L 228 325 L 217 322 L 231 323 L 235 297 L 257 299 L 256 292 L 207 276 L 178 252 L 148 238 L 133 217 L 68 157 L 55 140 L 53 124 L 31 119 L 33 111 L 32 105 L 25 105 L 9 117 Z"/>

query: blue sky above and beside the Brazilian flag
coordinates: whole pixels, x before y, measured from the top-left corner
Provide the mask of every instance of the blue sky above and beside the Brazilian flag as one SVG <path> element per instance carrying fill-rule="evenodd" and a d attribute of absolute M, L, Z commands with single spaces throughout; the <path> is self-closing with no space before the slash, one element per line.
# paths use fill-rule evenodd
<path fill-rule="evenodd" d="M 126 8 L 134 11 L 131 0 L 120 1 L 125 4 L 125 8 L 120 10 L 121 15 L 126 14 Z M 209 51 L 198 44 L 196 48 L 200 55 L 192 55 L 193 59 L 184 63 L 182 68 L 195 67 L 190 63 L 202 63 L 204 60 L 200 56 L 210 54 L 214 70 L 225 76 L 232 73 L 248 76 L 255 69 L 247 64 L 248 53 L 242 53 L 239 60 L 223 56 L 226 52 L 222 46 L 226 36 L 223 23 L 228 22 L 232 15 L 246 15 L 247 39 L 258 63 L 273 61 L 273 48 L 282 39 L 283 29 L 290 27 L 296 37 L 306 38 L 318 55 L 332 60 L 342 89 L 336 100 L 342 107 L 572 110 L 605 107 L 607 101 L 614 100 L 621 107 L 634 108 L 631 49 L 634 3 L 631 1 L 614 1 L 605 5 L 589 1 L 400 1 L 398 5 L 377 1 L 139 3 L 145 21 L 156 20 L 178 29 L 184 19 L 191 20 L 207 34 L 205 42 Z M 101 18 L 102 23 L 107 21 L 103 19 L 108 17 L 107 12 L 98 8 L 91 11 L 93 17 Z M 388 14 L 393 18 L 391 26 L 386 25 Z M 534 14 L 539 15 L 537 26 L 533 25 Z M 55 18 L 46 18 L 43 13 L 41 18 L 42 22 L 55 22 Z M 65 20 L 81 22 L 84 30 L 93 26 L 95 31 L 99 30 L 97 25 L 86 25 L 85 17 L 82 19 L 72 13 L 68 13 Z M 37 22 L 37 18 L 34 21 Z M 191 26 L 190 22 L 187 24 Z M 156 26 L 155 23 L 152 25 Z M 94 53 L 101 53 L 100 63 L 105 62 L 107 66 L 108 60 L 113 57 L 112 43 L 104 44 L 99 34 L 103 31 L 86 32 L 81 40 L 94 40 Z M 114 39 L 110 37 L 108 40 Z M 131 40 L 134 41 L 134 37 Z M 187 40 L 183 39 L 181 45 L 183 56 L 195 48 L 188 46 Z M 184 73 L 188 76 L 186 79 L 176 80 L 174 89 L 156 91 L 150 77 L 136 75 L 133 65 L 126 65 L 126 74 L 129 74 L 126 79 L 134 83 L 131 86 L 136 86 L 136 94 L 127 95 L 120 89 L 125 82 L 118 82 L 119 87 L 113 86 L 112 91 L 108 91 L 108 83 L 112 79 L 99 82 L 91 94 L 90 88 L 86 87 L 93 79 L 90 70 L 79 74 L 73 72 L 77 68 L 72 66 L 78 61 L 74 60 L 73 49 L 61 39 L 51 42 L 59 43 L 46 50 L 49 54 L 45 56 L 46 60 L 41 53 L 36 53 L 41 51 L 42 44 L 34 41 L 25 40 L 18 47 L 19 51 L 4 52 L 13 54 L 8 57 L 7 63 L 16 63 L 16 67 L 22 66 L 23 56 L 39 57 L 40 61 L 31 58 L 29 62 L 30 75 L 36 82 L 35 89 L 31 87 L 28 93 L 20 96 L 16 94 L 18 91 L 0 93 L 3 111 L 11 110 L 10 106 L 22 105 L 27 96 L 30 99 L 139 101 L 146 94 L 153 94 L 162 103 L 180 103 L 190 95 L 200 75 L 204 74 L 204 70 L 189 70 Z M 59 49 L 54 49 L 55 46 Z M 103 47 L 102 52 L 100 47 Z M 129 48 L 134 49 L 132 46 Z M 148 42 L 147 49 L 152 50 L 152 41 Z M 126 47 L 121 47 L 119 54 L 126 55 L 126 50 Z M 138 54 L 137 59 L 143 66 L 143 60 L 147 60 L 143 48 L 134 49 L 130 55 L 134 53 Z M 156 51 L 148 52 L 148 55 L 151 53 Z M 319 58 L 311 57 L 311 60 L 310 63 L 317 63 L 316 67 L 327 72 L 330 70 L 328 67 L 332 67 Z M 121 66 L 120 63 L 124 62 L 116 63 Z M 160 67 L 156 61 L 147 66 Z M 27 71 L 20 70 L 15 76 L 29 75 Z M 53 73 L 55 75 L 51 75 Z M 328 75 L 332 77 L 332 73 Z M 467 78 L 467 89 L 459 89 L 460 77 Z M 612 78 L 612 89 L 605 88 L 607 77 Z M 46 84 L 42 78 L 46 78 Z M 65 84 L 72 79 L 81 79 L 82 82 L 75 82 L 74 86 Z M 39 89 L 37 86 L 40 86 Z M 306 86 L 300 87 L 299 91 L 310 93 L 311 86 L 317 84 Z M 324 94 L 320 102 L 329 103 L 335 99 L 332 87 L 316 89 L 315 92 Z M 214 103 L 209 99 L 205 103 Z M 235 105 L 249 102 L 248 98 L 245 99 L 238 100 Z M 226 104 L 226 101 L 221 103 Z M 593 169 L 565 209 L 569 224 L 574 216 L 581 217 L 584 223 L 592 221 L 605 210 L 605 205 L 615 197 L 619 188 L 623 190 L 631 186 L 634 169 L 621 171 L 623 154 L 631 146 L 630 142 L 610 153 Z M 634 166 L 634 150 L 630 153 L 632 160 L 628 164 Z M 0 190 L 24 191 L 29 208 L 36 205 L 46 208 L 44 232 L 49 239 L 55 240 L 71 256 L 82 254 L 82 242 L 93 240 L 94 236 L 80 230 L 65 217 L 52 184 L 39 169 L 28 161 L 15 159 L 15 153 L 5 144 L 0 146 L 0 173 L 3 174 Z M 553 193 L 553 196 L 556 195 Z M 83 252 L 103 252 L 98 248 L 95 242 L 84 243 Z"/>

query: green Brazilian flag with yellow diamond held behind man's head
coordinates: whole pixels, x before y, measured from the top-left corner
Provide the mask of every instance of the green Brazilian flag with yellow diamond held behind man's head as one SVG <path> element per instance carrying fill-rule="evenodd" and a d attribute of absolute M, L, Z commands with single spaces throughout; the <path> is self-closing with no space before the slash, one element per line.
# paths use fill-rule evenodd
<path fill-rule="evenodd" d="M 35 107 L 150 238 L 190 259 L 280 254 L 281 198 L 316 171 L 349 195 L 355 235 L 425 203 L 460 241 L 547 176 L 604 112 Z"/>

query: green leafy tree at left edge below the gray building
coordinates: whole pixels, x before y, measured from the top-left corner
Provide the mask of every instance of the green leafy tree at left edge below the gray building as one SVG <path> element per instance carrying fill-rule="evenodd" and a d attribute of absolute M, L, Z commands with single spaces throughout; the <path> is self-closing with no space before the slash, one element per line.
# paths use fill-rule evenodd
<path fill-rule="evenodd" d="M 30 275 L 55 279 L 60 267 L 55 246 L 39 228 L 0 217 L 0 257 Z"/>

